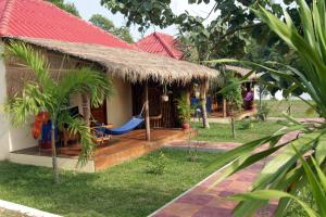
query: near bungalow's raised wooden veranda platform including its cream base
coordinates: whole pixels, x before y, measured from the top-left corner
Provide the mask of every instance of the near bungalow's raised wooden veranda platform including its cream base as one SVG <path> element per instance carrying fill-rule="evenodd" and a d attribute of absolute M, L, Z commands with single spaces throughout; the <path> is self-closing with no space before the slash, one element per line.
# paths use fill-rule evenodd
<path fill-rule="evenodd" d="M 197 133 L 196 130 L 184 131 L 180 129 L 153 129 L 151 141 L 147 141 L 146 130 L 138 129 L 127 135 L 114 137 L 96 148 L 96 151 L 84 171 L 99 171 L 111 166 L 139 157 L 155 151 L 164 144 L 187 140 Z M 76 162 L 80 154 L 80 144 L 72 143 L 58 149 L 59 167 L 62 169 L 77 169 Z M 34 163 L 30 161 L 33 158 Z M 39 158 L 39 159 L 38 159 Z M 11 161 L 21 164 L 37 166 L 51 166 L 51 151 L 42 151 L 38 146 L 18 150 L 11 153 Z"/>

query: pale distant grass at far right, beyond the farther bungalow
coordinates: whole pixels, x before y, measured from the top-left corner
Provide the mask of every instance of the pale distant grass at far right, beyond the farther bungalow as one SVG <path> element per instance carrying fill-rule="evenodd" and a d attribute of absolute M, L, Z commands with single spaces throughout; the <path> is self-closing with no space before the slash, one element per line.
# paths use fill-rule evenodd
<path fill-rule="evenodd" d="M 268 117 L 281 117 L 283 112 L 287 112 L 290 103 L 292 104 L 291 115 L 293 117 L 297 117 L 297 118 L 318 117 L 318 115 L 316 113 L 308 114 L 306 110 L 309 110 L 310 106 L 301 100 L 292 100 L 292 101 L 267 100 L 267 101 L 263 101 L 263 103 L 267 103 L 268 107 L 271 108 Z M 258 104 L 258 102 L 256 102 L 256 104 Z"/>

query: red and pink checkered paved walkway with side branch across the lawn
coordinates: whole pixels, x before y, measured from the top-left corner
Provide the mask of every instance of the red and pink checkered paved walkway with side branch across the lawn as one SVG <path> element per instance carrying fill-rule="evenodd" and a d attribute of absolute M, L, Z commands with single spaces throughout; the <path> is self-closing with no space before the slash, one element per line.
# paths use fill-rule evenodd
<path fill-rule="evenodd" d="M 280 143 L 291 140 L 297 133 L 285 136 Z M 192 142 L 198 145 L 197 142 Z M 221 144 L 221 145 L 218 145 Z M 233 149 L 238 143 L 204 143 L 201 149 Z M 175 143 L 170 146 L 183 148 L 185 143 Z M 251 186 L 259 171 L 263 168 L 264 162 L 259 162 L 251 167 L 241 170 L 220 184 L 212 188 L 212 183 L 221 176 L 221 171 L 216 171 L 202 182 L 195 186 L 189 191 L 176 197 L 161 209 L 153 213 L 152 217 L 229 217 L 236 202 L 228 201 L 226 196 L 246 192 Z M 277 206 L 277 202 L 269 203 L 268 206 L 262 208 L 256 216 L 273 216 Z"/>

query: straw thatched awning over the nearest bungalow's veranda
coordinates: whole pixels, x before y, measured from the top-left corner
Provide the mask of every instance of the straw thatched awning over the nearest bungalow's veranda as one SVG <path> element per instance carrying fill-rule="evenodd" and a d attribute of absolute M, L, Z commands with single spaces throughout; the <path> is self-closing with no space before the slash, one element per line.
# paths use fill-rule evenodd
<path fill-rule="evenodd" d="M 218 71 L 202 65 L 147 52 L 51 39 L 21 37 L 14 39 L 98 63 L 104 66 L 112 76 L 121 77 L 130 82 L 152 79 L 162 84 L 187 84 L 192 79 L 210 79 L 218 75 Z"/>

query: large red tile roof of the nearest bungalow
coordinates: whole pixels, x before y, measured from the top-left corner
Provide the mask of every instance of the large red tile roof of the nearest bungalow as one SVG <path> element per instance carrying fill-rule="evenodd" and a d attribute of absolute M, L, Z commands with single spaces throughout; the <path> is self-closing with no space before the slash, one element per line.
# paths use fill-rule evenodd
<path fill-rule="evenodd" d="M 136 49 L 43 0 L 0 0 L 0 37 L 45 38 Z"/>

